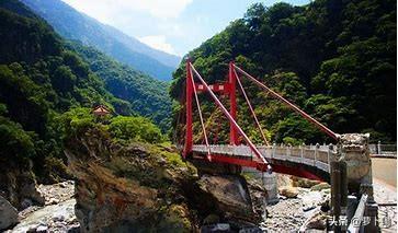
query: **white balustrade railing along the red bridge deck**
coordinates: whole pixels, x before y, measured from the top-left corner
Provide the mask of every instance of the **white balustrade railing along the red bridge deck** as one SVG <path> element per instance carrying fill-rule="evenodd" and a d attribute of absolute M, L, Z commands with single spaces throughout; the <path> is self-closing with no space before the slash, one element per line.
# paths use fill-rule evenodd
<path fill-rule="evenodd" d="M 289 161 L 298 164 L 316 166 L 329 173 L 330 162 L 337 158 L 336 145 L 260 145 L 257 147 L 265 159 Z M 194 144 L 193 151 L 197 153 L 207 153 L 208 148 L 205 144 Z M 230 144 L 212 144 L 209 145 L 212 154 L 224 154 L 230 156 L 241 156 L 249 160 L 258 160 L 248 145 Z"/>

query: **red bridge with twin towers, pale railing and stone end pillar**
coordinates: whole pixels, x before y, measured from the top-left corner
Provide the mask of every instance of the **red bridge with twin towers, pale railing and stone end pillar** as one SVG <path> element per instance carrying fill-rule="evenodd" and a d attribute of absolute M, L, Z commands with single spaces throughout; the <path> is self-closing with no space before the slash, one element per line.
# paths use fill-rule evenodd
<path fill-rule="evenodd" d="M 241 78 L 248 79 L 334 139 L 337 142 L 336 145 L 271 145 L 245 91 Z M 250 114 L 265 145 L 254 144 L 237 123 L 237 88 L 241 91 L 249 106 Z M 198 98 L 200 93 L 207 93 L 217 108 L 228 119 L 229 144 L 209 143 L 207 136 L 208 129 L 204 124 Z M 223 105 L 216 93 L 229 97 L 229 109 Z M 194 144 L 193 140 L 193 102 L 195 102 L 197 107 L 197 115 L 203 133 L 204 143 L 201 144 Z M 351 219 L 363 219 L 364 215 L 371 217 L 372 219 L 371 224 L 366 226 L 366 231 L 376 231 L 378 207 L 373 199 L 372 161 L 368 137 L 368 135 L 361 133 L 338 135 L 333 132 L 234 62 L 229 63 L 228 79 L 226 82 L 207 84 L 192 62 L 190 60 L 186 61 L 185 137 L 182 156 L 192 161 L 200 170 L 211 167 L 211 170 L 219 170 L 218 172 L 221 173 L 227 171 L 239 174 L 241 167 L 246 166 L 254 167 L 260 172 L 268 171 L 271 173 L 271 171 L 274 171 L 310 179 L 327 180 L 331 184 L 332 215 L 336 218 L 349 217 L 348 220 L 350 222 L 348 229 L 336 226 L 334 231 L 337 232 L 341 230 L 359 232 L 362 226 L 354 225 Z M 227 170 L 224 170 L 225 167 Z M 355 217 L 348 214 L 349 194 L 355 195 L 354 202 L 356 202 L 350 206 L 350 211 L 354 212 Z M 353 201 L 352 198 L 350 200 Z"/>

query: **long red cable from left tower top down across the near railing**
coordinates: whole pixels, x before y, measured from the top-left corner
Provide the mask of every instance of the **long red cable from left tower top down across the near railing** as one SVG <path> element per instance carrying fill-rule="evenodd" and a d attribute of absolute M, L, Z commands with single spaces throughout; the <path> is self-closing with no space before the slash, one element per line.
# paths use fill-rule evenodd
<path fill-rule="evenodd" d="M 197 77 L 197 79 L 202 82 L 202 84 L 205 86 L 206 91 L 209 93 L 212 98 L 215 101 L 216 105 L 221 109 L 221 112 L 227 116 L 229 121 L 236 127 L 238 132 L 243 137 L 245 141 L 249 144 L 250 149 L 254 152 L 255 156 L 264 164 L 266 165 L 266 170 L 271 171 L 271 166 L 269 162 L 265 160 L 265 158 L 260 153 L 260 151 L 255 148 L 255 145 L 251 142 L 249 137 L 245 133 L 245 131 L 239 127 L 237 121 L 234 119 L 234 117 L 228 113 L 228 110 L 224 107 L 223 103 L 217 98 L 217 96 L 214 94 L 212 89 L 207 85 L 207 83 L 204 81 L 204 79 L 201 77 L 201 74 L 196 71 L 194 66 L 189 62 L 190 70 L 194 72 L 194 74 Z"/>

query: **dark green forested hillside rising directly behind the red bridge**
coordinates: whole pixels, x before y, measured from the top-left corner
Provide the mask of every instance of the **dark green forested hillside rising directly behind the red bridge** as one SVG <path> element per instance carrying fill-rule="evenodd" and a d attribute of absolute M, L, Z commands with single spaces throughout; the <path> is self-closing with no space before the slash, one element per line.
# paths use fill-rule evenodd
<path fill-rule="evenodd" d="M 393 0 L 315 0 L 304 7 L 276 3 L 271 8 L 258 3 L 186 57 L 209 83 L 221 81 L 228 62 L 235 60 L 336 132 L 371 132 L 373 141 L 394 142 L 396 18 Z M 171 88 L 175 100 L 181 100 L 183 81 L 181 63 Z M 245 86 L 271 141 L 328 140 L 253 84 L 245 81 Z M 226 120 L 215 117 L 220 114 L 214 112 L 214 104 L 206 98 L 202 102 L 212 139 L 217 125 L 228 127 Z M 238 123 L 260 142 L 248 113 L 239 100 Z M 174 125 L 178 118 L 175 113 Z M 197 120 L 195 128 L 198 135 Z M 177 131 L 181 135 L 181 127 Z M 220 135 L 219 140 L 227 139 L 226 130 Z"/>

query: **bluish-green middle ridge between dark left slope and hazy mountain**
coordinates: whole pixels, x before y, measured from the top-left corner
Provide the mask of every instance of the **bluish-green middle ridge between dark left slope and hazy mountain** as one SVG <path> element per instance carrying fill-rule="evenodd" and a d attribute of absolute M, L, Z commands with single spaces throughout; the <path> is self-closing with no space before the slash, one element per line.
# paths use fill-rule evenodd
<path fill-rule="evenodd" d="M 69 43 L 68 47 L 83 57 L 113 95 L 129 102 L 136 113 L 152 119 L 163 131 L 170 130 L 171 98 L 167 93 L 168 83 L 155 80 L 78 42 Z"/>

